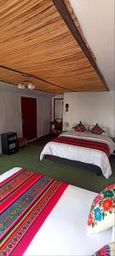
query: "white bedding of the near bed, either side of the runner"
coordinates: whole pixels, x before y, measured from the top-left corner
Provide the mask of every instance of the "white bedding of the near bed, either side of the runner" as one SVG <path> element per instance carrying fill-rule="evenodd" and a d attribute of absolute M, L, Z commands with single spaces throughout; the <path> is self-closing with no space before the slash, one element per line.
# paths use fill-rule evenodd
<path fill-rule="evenodd" d="M 16 172 L 20 172 L 20 167 L 5 172 L 0 177 L 1 183 Z M 89 190 L 68 185 L 23 255 L 86 256 L 111 242 L 112 228 L 87 235 L 89 207 L 95 195 Z"/>

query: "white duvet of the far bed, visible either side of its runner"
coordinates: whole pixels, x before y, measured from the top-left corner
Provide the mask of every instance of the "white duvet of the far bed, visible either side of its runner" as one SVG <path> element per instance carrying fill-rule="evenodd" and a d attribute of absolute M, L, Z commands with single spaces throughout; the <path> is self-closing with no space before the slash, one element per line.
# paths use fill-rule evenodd
<path fill-rule="evenodd" d="M 94 140 L 102 143 L 106 143 L 109 146 L 110 154 L 115 149 L 115 143 L 112 142 L 110 137 L 83 133 L 78 131 L 67 131 L 60 136 L 66 137 L 82 137 L 83 139 Z M 68 145 L 64 143 L 49 142 L 43 148 L 40 154 L 40 160 L 43 160 L 45 154 L 55 155 L 61 158 L 69 160 L 77 160 L 83 163 L 93 164 L 99 166 L 104 177 L 108 178 L 112 174 L 112 169 L 109 163 L 109 159 L 103 151 L 95 148 L 83 148 L 74 145 Z"/>

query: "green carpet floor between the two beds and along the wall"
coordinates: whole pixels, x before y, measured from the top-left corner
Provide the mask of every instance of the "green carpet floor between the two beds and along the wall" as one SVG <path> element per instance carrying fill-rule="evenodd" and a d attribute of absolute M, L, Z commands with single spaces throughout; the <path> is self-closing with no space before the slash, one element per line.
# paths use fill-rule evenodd
<path fill-rule="evenodd" d="M 41 172 L 55 177 L 63 182 L 70 183 L 83 189 L 100 192 L 106 185 L 115 182 L 115 156 L 111 156 L 112 176 L 97 176 L 86 167 L 53 164 L 49 160 L 39 160 L 40 152 L 50 136 L 42 137 L 36 142 L 28 143 L 27 147 L 20 148 L 15 154 L 0 154 L 0 173 L 8 171 L 15 166 L 23 166 L 35 172 Z"/>

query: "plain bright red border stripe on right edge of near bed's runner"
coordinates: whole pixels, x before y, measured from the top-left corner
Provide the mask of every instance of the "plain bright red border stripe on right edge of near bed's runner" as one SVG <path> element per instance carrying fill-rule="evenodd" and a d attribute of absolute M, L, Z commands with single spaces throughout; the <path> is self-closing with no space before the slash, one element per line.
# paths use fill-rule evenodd
<path fill-rule="evenodd" d="M 63 183 L 60 186 L 60 189 L 58 189 L 58 191 L 55 193 L 53 198 L 49 201 L 49 204 L 47 205 L 47 207 L 43 209 L 43 212 L 41 212 L 40 216 L 38 216 L 34 224 L 32 224 L 32 227 L 30 228 L 30 230 L 28 230 L 28 232 L 21 239 L 17 247 L 15 247 L 14 252 L 10 254 L 11 256 L 15 256 L 15 255 L 21 256 L 26 251 L 26 248 L 29 246 L 30 242 L 32 241 L 32 238 L 36 235 L 37 231 L 40 229 L 43 222 L 48 217 L 49 212 L 51 212 L 52 209 L 55 207 L 55 204 L 57 203 L 57 201 L 59 201 L 60 196 L 63 194 L 67 186 L 68 184 L 66 183 Z"/>

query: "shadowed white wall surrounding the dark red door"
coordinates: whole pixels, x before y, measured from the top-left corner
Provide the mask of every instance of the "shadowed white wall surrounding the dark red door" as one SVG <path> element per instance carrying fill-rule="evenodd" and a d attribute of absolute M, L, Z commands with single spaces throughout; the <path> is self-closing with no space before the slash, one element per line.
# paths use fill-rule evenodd
<path fill-rule="evenodd" d="M 9 88 L 0 86 L 0 134 L 15 131 L 19 137 L 22 136 L 20 96 L 37 98 L 37 137 L 48 134 L 51 119 L 51 97 L 29 90 L 12 90 L 10 85 Z"/>

